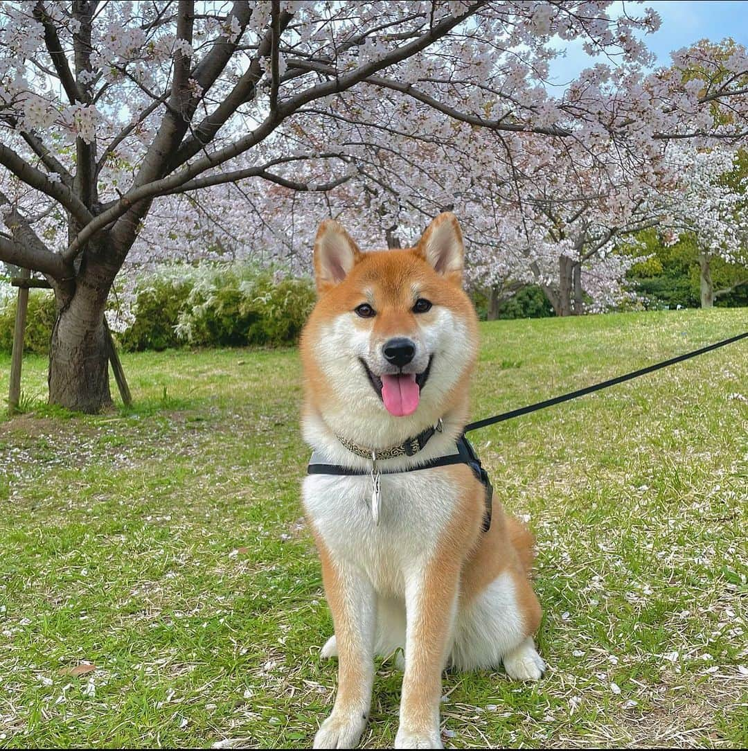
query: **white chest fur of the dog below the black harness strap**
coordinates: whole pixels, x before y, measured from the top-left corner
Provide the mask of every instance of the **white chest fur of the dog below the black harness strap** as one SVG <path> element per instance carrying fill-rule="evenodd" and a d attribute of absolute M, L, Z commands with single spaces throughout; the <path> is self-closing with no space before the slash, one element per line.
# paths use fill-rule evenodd
<path fill-rule="evenodd" d="M 445 472 L 381 475 L 379 525 L 369 475 L 309 475 L 303 503 L 333 557 L 366 572 L 375 589 L 403 596 L 404 576 L 430 558 L 454 513 L 457 489 Z"/>

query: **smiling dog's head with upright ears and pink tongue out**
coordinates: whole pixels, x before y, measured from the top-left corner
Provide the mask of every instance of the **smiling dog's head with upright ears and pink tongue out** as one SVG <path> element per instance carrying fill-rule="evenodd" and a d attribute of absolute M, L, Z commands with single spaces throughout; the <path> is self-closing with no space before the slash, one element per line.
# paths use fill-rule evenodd
<path fill-rule="evenodd" d="M 466 404 L 478 336 L 453 214 L 437 216 L 415 248 L 366 253 L 327 220 L 314 265 L 319 300 L 302 353 L 307 396 L 331 427 L 407 436 Z"/>

